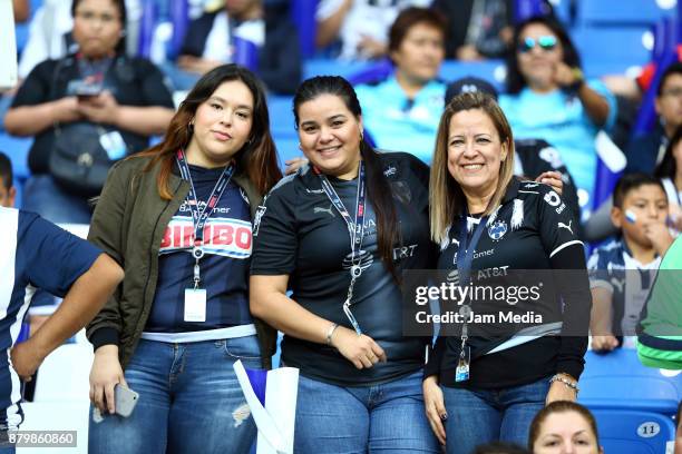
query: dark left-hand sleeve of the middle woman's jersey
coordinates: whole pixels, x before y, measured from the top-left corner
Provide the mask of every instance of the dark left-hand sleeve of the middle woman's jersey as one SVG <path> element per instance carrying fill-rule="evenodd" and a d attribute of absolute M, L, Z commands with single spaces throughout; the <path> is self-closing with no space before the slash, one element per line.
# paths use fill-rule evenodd
<path fill-rule="evenodd" d="M 259 206 L 253 226 L 252 275 L 291 275 L 295 269 L 298 237 L 293 185 L 275 187 Z"/>

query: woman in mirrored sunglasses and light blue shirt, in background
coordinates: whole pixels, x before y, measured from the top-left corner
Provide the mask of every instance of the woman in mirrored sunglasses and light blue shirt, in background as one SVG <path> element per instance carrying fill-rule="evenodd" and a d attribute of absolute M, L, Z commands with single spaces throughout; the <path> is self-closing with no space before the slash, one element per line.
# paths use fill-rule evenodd
<path fill-rule="evenodd" d="M 615 120 L 615 97 L 586 81 L 579 56 L 562 26 L 534 17 L 517 26 L 507 65 L 507 92 L 499 98 L 518 139 L 542 138 L 558 149 L 578 187 L 585 215 L 592 207 L 597 156 L 594 139 Z"/>

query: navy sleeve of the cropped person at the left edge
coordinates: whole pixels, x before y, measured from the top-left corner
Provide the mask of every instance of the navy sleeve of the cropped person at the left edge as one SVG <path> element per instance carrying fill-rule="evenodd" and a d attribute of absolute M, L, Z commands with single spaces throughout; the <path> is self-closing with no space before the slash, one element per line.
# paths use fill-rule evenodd
<path fill-rule="evenodd" d="M 101 251 L 39 216 L 21 216 L 28 225 L 19 238 L 18 251 L 26 259 L 29 282 L 64 297 Z"/>

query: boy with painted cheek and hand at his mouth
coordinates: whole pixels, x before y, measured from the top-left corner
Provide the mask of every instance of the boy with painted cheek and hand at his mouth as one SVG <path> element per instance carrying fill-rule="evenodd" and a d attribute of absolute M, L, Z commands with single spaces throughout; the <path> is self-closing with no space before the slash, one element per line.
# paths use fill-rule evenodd
<path fill-rule="evenodd" d="M 668 197 L 661 181 L 645 174 L 622 177 L 613 191 L 611 220 L 620 238 L 597 248 L 590 260 L 592 349 L 611 352 L 633 336 L 661 258 L 673 243 Z"/>

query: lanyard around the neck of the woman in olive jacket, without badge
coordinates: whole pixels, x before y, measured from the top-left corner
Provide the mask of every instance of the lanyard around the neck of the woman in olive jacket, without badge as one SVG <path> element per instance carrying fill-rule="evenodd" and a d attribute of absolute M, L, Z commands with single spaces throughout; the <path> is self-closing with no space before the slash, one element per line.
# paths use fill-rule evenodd
<path fill-rule="evenodd" d="M 177 167 L 179 168 L 181 177 L 189 181 L 189 193 L 187 193 L 186 200 L 189 211 L 192 211 L 192 224 L 194 224 L 194 248 L 192 249 L 192 255 L 195 259 L 194 287 L 197 288 L 201 280 L 198 260 L 204 256 L 204 226 L 221 200 L 221 197 L 223 197 L 223 193 L 225 193 L 227 184 L 234 174 L 234 167 L 227 166 L 225 170 L 223 170 L 221 177 L 213 187 L 211 195 L 208 196 L 206 206 L 204 209 L 199 209 L 198 198 L 196 196 L 196 190 L 194 189 L 194 181 L 192 181 L 192 174 L 189 172 L 189 165 L 187 165 L 185 152 L 182 149 L 177 150 L 175 158 L 177 159 Z"/>

